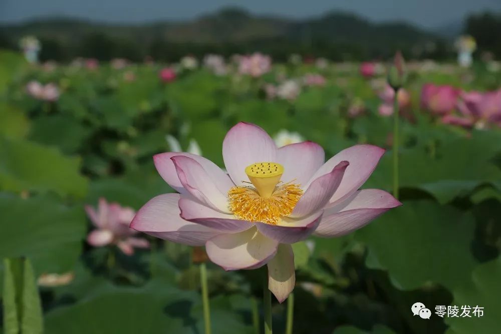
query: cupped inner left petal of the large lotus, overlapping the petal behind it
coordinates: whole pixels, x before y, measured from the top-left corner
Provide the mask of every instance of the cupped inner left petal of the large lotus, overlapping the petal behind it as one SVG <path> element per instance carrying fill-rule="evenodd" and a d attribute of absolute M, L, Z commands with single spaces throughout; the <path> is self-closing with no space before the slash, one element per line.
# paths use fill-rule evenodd
<path fill-rule="evenodd" d="M 210 178 L 198 162 L 185 156 L 175 156 L 171 160 L 184 189 L 205 205 L 221 212 L 229 212 L 226 193 L 219 191 L 215 180 Z"/>

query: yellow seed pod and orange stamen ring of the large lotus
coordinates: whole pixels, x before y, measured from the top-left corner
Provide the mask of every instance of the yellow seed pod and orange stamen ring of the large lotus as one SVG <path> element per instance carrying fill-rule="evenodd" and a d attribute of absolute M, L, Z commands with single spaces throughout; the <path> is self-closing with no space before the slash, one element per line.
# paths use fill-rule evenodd
<path fill-rule="evenodd" d="M 303 190 L 298 184 L 280 184 L 284 167 L 278 163 L 260 162 L 245 168 L 251 186 L 233 187 L 228 191 L 229 208 L 239 219 L 277 224 L 289 215 Z"/>

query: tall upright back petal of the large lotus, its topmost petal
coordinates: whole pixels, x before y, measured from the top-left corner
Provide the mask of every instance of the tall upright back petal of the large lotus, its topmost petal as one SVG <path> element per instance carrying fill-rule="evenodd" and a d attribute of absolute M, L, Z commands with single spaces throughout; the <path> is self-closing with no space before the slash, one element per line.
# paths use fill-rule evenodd
<path fill-rule="evenodd" d="M 240 122 L 232 127 L 222 143 L 224 165 L 233 182 L 248 185 L 245 167 L 256 162 L 276 162 L 277 146 L 259 126 Z"/>

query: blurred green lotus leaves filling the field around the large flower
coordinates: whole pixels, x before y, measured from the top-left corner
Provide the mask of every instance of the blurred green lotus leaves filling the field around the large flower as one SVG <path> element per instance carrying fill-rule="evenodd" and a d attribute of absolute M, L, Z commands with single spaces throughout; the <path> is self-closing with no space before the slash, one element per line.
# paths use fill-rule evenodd
<path fill-rule="evenodd" d="M 280 64 L 260 79 L 185 71 L 162 84 L 160 65 L 53 72 L 19 55 L 0 53 L 0 257 L 27 256 L 35 275 L 74 272 L 68 285 L 39 287 L 47 333 L 199 333 L 203 330 L 197 264 L 189 247 L 153 240 L 128 257 L 93 249 L 83 206 L 99 197 L 139 209 L 172 189 L 151 156 L 194 138 L 222 166 L 221 142 L 238 121 L 274 135 L 299 132 L 327 156 L 356 143 L 387 149 L 367 188 L 390 190 L 392 120 L 356 67 L 323 70 L 324 87 L 305 88 L 292 102 L 266 100 L 260 88 L 275 75 L 300 77 L 313 65 Z M 124 79 L 132 72 L 136 79 Z M 464 89 L 499 87 L 482 65 L 467 73 L 412 72 L 412 121 L 401 123 L 403 206 L 348 236 L 294 245 L 296 333 L 497 333 L 501 311 L 501 132 L 442 125 L 419 108 L 425 82 Z M 29 97 L 31 79 L 56 82 L 54 103 Z M 364 115 L 347 116 L 355 98 Z M 311 247 L 313 243 L 314 247 Z M 115 264 L 110 265 L 110 256 Z M 252 332 L 251 300 L 261 298 L 263 272 L 224 272 L 208 264 L 215 333 Z M 0 271 L 3 270 L 0 267 Z M 1 286 L 1 285 L 0 285 Z M 430 320 L 410 306 L 483 306 L 481 318 Z M 274 304 L 276 332 L 285 305 Z M 3 319 L 5 325 L 6 319 Z"/>

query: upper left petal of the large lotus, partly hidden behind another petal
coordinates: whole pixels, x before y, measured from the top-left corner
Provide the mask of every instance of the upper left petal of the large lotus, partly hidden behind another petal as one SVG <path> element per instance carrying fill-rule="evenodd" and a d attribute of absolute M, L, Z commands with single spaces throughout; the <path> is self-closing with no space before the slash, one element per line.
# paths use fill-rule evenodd
<path fill-rule="evenodd" d="M 185 152 L 167 152 L 160 153 L 153 156 L 153 162 L 155 163 L 155 168 L 157 169 L 160 176 L 167 182 L 172 188 L 174 188 L 177 192 L 183 194 L 187 193 L 187 191 L 183 188 L 179 177 L 177 176 L 176 168 L 174 163 L 170 158 L 174 156 L 185 156 L 191 158 L 198 162 L 205 172 L 210 175 L 210 178 L 214 180 L 214 183 L 218 187 L 219 191 L 222 193 L 226 193 L 229 188 L 233 186 L 233 182 L 231 179 L 223 172 L 215 163 L 212 161 L 205 159 L 196 154 L 185 153 Z"/>

